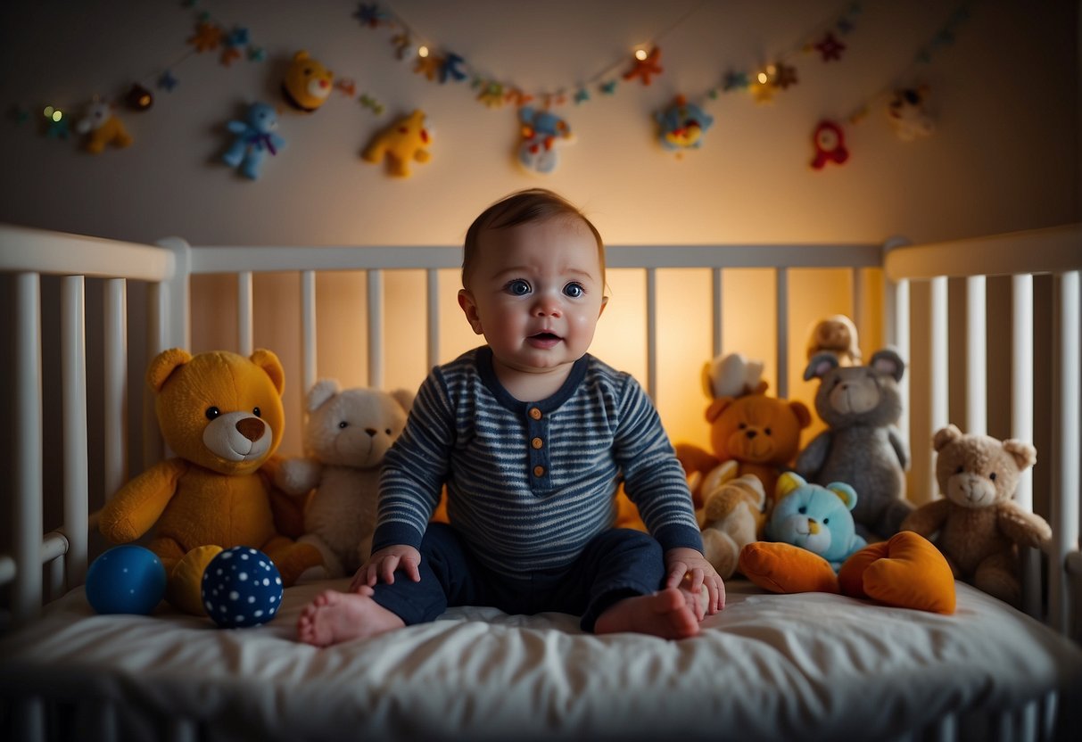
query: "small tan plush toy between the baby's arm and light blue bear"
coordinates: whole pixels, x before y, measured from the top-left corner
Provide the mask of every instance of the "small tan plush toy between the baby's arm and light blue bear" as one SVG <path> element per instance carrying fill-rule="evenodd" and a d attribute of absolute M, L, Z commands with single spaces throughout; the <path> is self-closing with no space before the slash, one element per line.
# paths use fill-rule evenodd
<path fill-rule="evenodd" d="M 702 501 L 696 511 L 702 531 L 703 556 L 723 579 L 737 570 L 740 549 L 758 539 L 766 507 L 763 482 L 752 474 L 736 476 L 737 462 L 728 461 L 702 477 L 688 477 L 688 487 Z"/>

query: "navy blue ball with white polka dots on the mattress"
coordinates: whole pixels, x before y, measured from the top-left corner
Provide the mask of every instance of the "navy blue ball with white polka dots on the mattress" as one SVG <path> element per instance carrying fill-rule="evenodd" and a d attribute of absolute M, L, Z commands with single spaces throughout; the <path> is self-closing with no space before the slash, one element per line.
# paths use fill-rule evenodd
<path fill-rule="evenodd" d="M 255 548 L 227 548 L 211 559 L 203 572 L 203 607 L 223 628 L 266 623 L 278 612 L 281 596 L 278 568 Z"/>

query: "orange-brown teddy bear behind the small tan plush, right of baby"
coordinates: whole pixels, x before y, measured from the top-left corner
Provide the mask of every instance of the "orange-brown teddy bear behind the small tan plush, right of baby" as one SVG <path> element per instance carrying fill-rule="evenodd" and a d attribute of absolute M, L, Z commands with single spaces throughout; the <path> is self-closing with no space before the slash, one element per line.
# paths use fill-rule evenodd
<path fill-rule="evenodd" d="M 760 383 L 756 388 L 765 389 Z M 711 450 L 694 443 L 677 443 L 676 456 L 684 471 L 707 473 L 726 461 L 737 462 L 737 476 L 753 474 L 768 493 L 770 511 L 778 475 L 800 450 L 801 430 L 812 424 L 812 414 L 800 401 L 767 397 L 763 392 L 739 397 L 717 397 L 707 408 Z M 696 501 L 696 506 L 702 503 Z"/>

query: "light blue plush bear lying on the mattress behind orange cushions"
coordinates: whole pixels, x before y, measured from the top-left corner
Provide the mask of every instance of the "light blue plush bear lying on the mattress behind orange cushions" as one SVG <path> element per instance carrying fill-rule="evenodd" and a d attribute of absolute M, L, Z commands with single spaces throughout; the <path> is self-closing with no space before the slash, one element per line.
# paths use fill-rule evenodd
<path fill-rule="evenodd" d="M 822 487 L 787 472 L 778 478 L 765 541 L 781 541 L 818 554 L 836 572 L 868 542 L 856 532 L 850 511 L 856 491 L 845 482 Z"/>

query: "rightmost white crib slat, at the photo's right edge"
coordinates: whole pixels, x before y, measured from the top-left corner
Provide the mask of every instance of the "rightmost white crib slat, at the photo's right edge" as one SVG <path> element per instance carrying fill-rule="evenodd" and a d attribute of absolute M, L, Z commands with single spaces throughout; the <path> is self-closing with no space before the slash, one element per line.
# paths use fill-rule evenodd
<path fill-rule="evenodd" d="M 1082 454 L 1082 436 L 1079 427 L 1080 392 L 1079 368 L 1082 365 L 1082 341 L 1080 341 L 1079 271 L 1073 270 L 1056 276 L 1055 291 L 1058 313 L 1057 343 L 1058 362 L 1057 392 L 1053 398 L 1054 447 L 1058 467 L 1054 474 L 1052 498 L 1052 521 L 1057 524 L 1053 531 L 1051 574 L 1048 575 L 1048 620 L 1060 632 L 1070 628 L 1070 579 L 1066 560 L 1070 552 L 1078 549 L 1079 539 L 1079 458 Z"/>

